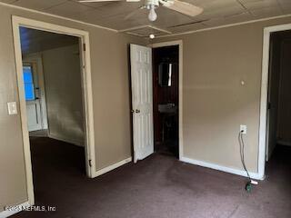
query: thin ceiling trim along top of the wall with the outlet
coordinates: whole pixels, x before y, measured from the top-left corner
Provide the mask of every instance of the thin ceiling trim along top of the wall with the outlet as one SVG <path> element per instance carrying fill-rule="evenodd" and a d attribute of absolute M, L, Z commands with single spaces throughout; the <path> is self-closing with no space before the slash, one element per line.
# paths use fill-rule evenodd
<path fill-rule="evenodd" d="M 236 25 L 247 25 L 247 24 L 263 22 L 263 21 L 268 21 L 268 20 L 275 20 L 275 19 L 285 18 L 285 17 L 290 17 L 290 16 L 291 16 L 291 14 L 271 16 L 271 17 L 266 17 L 266 18 L 251 20 L 251 21 L 239 22 L 239 23 L 230 24 L 230 25 L 218 25 L 218 26 L 214 26 L 214 27 L 208 27 L 208 28 L 203 28 L 203 29 L 198 29 L 198 30 L 192 30 L 192 31 L 178 33 L 178 34 L 157 35 L 156 38 L 166 38 L 166 37 L 171 37 L 171 36 L 176 36 L 176 35 L 190 35 L 190 34 L 195 34 L 195 33 L 199 33 L 199 32 L 205 32 L 205 31 L 209 31 L 209 30 L 222 29 L 222 28 L 227 28 L 227 27 L 236 26 Z"/>

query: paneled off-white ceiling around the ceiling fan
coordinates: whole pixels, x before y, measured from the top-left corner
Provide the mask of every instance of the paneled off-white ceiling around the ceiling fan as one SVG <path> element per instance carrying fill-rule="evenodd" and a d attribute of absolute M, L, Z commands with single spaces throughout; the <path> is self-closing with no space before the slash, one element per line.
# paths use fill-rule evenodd
<path fill-rule="evenodd" d="M 291 14 L 291 0 L 181 0 L 204 8 L 204 12 L 196 17 L 190 17 L 161 6 L 156 10 L 157 20 L 149 22 L 146 10 L 139 10 L 130 19 L 125 19 L 126 15 L 143 5 L 144 0 L 139 3 L 102 2 L 83 4 L 78 3 L 77 0 L 0 1 L 94 25 L 103 25 L 115 30 L 139 25 L 154 25 L 173 34 Z M 189 23 L 194 24 L 186 25 Z"/>

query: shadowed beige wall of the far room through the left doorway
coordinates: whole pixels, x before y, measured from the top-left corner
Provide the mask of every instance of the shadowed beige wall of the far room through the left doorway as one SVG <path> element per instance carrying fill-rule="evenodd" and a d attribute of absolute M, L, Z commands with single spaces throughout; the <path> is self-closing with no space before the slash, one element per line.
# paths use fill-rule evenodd
<path fill-rule="evenodd" d="M 42 53 L 49 135 L 84 146 L 79 45 Z"/>

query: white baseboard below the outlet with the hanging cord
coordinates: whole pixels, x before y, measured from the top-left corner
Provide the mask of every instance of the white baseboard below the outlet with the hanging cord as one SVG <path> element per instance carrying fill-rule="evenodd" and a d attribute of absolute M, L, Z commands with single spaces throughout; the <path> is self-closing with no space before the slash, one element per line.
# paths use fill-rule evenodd
<path fill-rule="evenodd" d="M 211 169 L 214 169 L 214 170 L 223 171 L 223 172 L 226 172 L 226 173 L 233 173 L 233 174 L 237 174 L 237 175 L 241 175 L 241 176 L 247 177 L 247 174 L 246 174 L 245 171 L 237 170 L 237 169 L 226 167 L 226 166 L 222 166 L 222 165 L 218 165 L 218 164 L 215 164 L 215 163 L 206 163 L 206 162 L 194 160 L 194 159 L 191 159 L 191 158 L 188 158 L 188 157 L 185 157 L 185 156 L 182 157 L 180 160 L 182 162 L 192 163 L 192 164 L 196 164 L 196 165 L 199 165 L 199 166 L 211 168 Z M 264 180 L 264 177 L 260 176 L 258 173 L 251 173 L 250 172 L 249 175 L 250 175 L 250 177 L 252 179 Z"/>

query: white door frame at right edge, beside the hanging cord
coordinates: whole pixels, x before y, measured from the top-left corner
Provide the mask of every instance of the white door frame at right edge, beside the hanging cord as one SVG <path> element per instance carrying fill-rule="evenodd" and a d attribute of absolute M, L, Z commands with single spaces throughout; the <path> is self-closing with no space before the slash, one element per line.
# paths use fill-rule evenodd
<path fill-rule="evenodd" d="M 266 137 L 267 129 L 267 95 L 268 95 L 268 77 L 269 77 L 269 49 L 270 35 L 274 32 L 290 30 L 291 24 L 274 25 L 264 28 L 263 41 L 263 61 L 262 61 L 262 82 L 261 82 L 261 101 L 260 101 L 260 123 L 259 123 L 259 154 L 258 154 L 258 177 L 265 178 L 266 164 Z"/>

